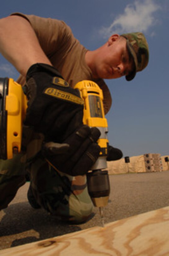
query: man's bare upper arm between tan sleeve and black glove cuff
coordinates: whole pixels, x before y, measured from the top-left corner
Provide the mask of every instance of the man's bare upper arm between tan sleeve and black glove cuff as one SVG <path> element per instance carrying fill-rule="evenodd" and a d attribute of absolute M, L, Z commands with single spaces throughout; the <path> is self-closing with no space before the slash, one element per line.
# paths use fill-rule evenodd
<path fill-rule="evenodd" d="M 23 76 L 26 76 L 29 67 L 35 63 L 51 65 L 39 45 L 33 28 L 25 18 L 2 18 L 0 35 L 0 52 Z"/>

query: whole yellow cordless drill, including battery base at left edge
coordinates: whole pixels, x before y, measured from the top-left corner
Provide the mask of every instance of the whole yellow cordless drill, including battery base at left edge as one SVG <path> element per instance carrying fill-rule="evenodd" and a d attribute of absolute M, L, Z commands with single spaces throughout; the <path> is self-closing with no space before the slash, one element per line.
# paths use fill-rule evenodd
<path fill-rule="evenodd" d="M 101 136 L 98 145 L 101 152 L 98 160 L 87 173 L 88 192 L 94 206 L 99 207 L 103 220 L 103 207 L 108 204 L 110 194 L 107 170 L 107 120 L 103 109 L 103 92 L 93 81 L 80 81 L 75 85 L 84 100 L 83 123 L 97 127 Z M 21 151 L 22 124 L 27 108 L 27 98 L 20 84 L 12 78 L 0 78 L 0 158 L 11 159 L 13 153 Z"/>

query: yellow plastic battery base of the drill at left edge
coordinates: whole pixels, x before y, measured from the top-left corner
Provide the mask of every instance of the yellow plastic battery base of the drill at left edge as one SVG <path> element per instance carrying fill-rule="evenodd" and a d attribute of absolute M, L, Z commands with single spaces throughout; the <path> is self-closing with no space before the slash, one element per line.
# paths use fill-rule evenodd
<path fill-rule="evenodd" d="M 27 108 L 27 99 L 20 84 L 9 78 L 7 111 L 7 159 L 21 151 L 22 124 Z"/>

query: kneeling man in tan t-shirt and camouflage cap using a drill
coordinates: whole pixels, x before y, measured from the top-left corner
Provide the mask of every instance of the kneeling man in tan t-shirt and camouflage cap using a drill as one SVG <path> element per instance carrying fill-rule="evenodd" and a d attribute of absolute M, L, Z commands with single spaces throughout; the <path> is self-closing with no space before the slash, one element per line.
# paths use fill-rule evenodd
<path fill-rule="evenodd" d="M 103 79 L 126 76 L 130 81 L 143 70 L 148 64 L 146 39 L 142 33 L 114 34 L 89 51 L 64 22 L 21 13 L 1 19 L 0 33 L 1 53 L 20 72 L 18 82 L 28 97 L 22 140 L 27 160 L 24 164 L 22 154 L 1 160 L 1 170 L 8 175 L 0 177 L 1 209 L 24 184 L 26 168 L 31 181 L 28 199 L 34 208 L 84 221 L 93 209 L 85 174 L 98 158 L 100 134 L 82 124 L 83 103 L 73 87 L 81 80 L 95 81 L 103 90 L 106 114 L 112 100 Z M 62 85 L 56 77 L 64 78 Z M 49 97 L 46 86 L 71 94 L 74 102 Z M 118 149 L 109 151 L 108 160 L 122 157 Z"/>

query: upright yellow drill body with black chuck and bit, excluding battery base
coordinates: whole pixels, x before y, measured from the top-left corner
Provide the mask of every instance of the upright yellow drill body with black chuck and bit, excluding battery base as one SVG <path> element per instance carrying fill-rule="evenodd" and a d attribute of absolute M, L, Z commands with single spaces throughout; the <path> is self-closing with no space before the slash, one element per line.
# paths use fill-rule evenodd
<path fill-rule="evenodd" d="M 83 80 L 75 85 L 85 102 L 83 123 L 89 127 L 97 127 L 100 132 L 98 145 L 101 148 L 100 156 L 91 170 L 87 173 L 88 192 L 94 206 L 99 207 L 102 224 L 104 226 L 103 207 L 108 204 L 110 182 L 107 168 L 108 125 L 104 115 L 103 91 L 93 81 Z"/>

